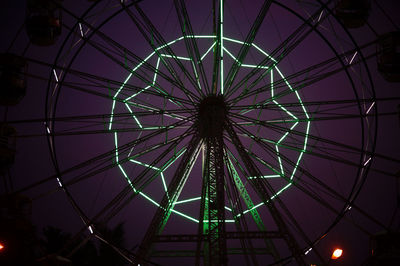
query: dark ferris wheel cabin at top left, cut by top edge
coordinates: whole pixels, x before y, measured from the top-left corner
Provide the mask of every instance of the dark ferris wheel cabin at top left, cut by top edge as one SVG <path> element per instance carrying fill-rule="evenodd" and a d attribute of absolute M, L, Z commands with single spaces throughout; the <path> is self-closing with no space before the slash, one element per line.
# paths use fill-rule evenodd
<path fill-rule="evenodd" d="M 61 0 L 28 0 L 26 31 L 35 45 L 53 45 L 61 35 Z"/>

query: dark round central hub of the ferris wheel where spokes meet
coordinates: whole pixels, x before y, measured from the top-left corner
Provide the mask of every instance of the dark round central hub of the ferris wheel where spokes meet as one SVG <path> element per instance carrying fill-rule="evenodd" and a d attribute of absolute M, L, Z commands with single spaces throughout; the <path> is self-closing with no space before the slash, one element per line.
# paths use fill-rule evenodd
<path fill-rule="evenodd" d="M 222 96 L 207 96 L 199 104 L 198 129 L 205 137 L 222 136 L 227 108 Z"/>

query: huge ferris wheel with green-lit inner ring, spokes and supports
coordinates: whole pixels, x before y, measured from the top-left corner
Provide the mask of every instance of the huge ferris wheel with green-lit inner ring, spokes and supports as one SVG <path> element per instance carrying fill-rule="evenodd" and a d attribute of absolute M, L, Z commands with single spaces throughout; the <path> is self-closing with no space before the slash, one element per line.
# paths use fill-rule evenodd
<path fill-rule="evenodd" d="M 337 226 L 368 234 L 352 213 L 389 230 L 356 201 L 400 162 L 376 151 L 399 101 L 376 84 L 400 81 L 381 1 L 87 2 L 27 1 L 0 58 L 6 195 L 62 195 L 52 215 L 133 265 L 325 265 Z M 39 137 L 51 171 L 12 187 Z M 98 230 L 121 221 L 132 248 Z"/>

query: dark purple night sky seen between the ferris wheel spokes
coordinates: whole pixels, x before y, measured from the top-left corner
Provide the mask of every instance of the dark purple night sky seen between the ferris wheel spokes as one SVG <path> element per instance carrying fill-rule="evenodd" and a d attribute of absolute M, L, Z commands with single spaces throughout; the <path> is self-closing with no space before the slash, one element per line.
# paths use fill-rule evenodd
<path fill-rule="evenodd" d="M 76 1 L 63 2 L 65 10 L 62 17 L 64 25 L 62 34 L 57 43 L 49 47 L 29 45 L 23 26 L 26 14 L 25 1 L 2 1 L 0 4 L 1 51 L 21 55 L 26 50 L 24 56 L 29 58 L 26 96 L 16 106 L 7 109 L 1 107 L 1 115 L 18 132 L 17 154 L 9 173 L 13 182 L 12 190 L 25 189 L 30 184 L 49 178 L 46 182 L 23 191 L 23 194 L 33 199 L 33 223 L 39 233 L 43 227 L 52 225 L 75 234 L 84 227 L 85 223 L 79 212 L 74 210 L 71 199 L 76 202 L 85 217 L 92 219 L 122 190 L 127 191 L 128 198 L 129 195 L 134 194 L 127 179 L 135 183 L 138 182 L 137 176 L 142 174 L 144 179 L 154 176 L 154 180 L 124 208 L 115 215 L 110 213 L 108 221 L 111 227 L 124 222 L 127 242 L 125 248 L 136 253 L 157 209 L 154 202 L 162 201 L 165 187 L 171 182 L 184 155 L 171 165 L 167 167 L 165 165 L 169 159 L 177 156 L 179 151 L 184 154 L 185 149 L 188 148 L 193 135 L 189 131 L 190 126 L 193 125 L 190 118 L 193 115 L 191 111 L 195 112 L 197 107 L 196 104 L 192 105 L 191 101 L 199 102 L 195 97 L 201 95 L 202 91 L 197 91 L 196 81 L 190 81 L 180 69 L 179 64 L 188 69 L 192 77 L 195 76 L 192 65 L 184 59 L 189 55 L 183 40 L 168 46 L 175 55 L 181 57 L 177 60 L 178 62 L 168 57 L 170 52 L 168 49 L 159 49 L 162 54 L 160 57 L 173 66 L 177 77 L 189 93 L 194 95 L 194 99 L 169 82 L 168 78 L 174 77 L 167 67 L 162 62 L 160 63 L 160 57 L 149 56 L 153 53 L 152 47 L 143 37 L 141 28 L 136 27 L 132 22 L 131 13 L 121 10 L 120 1 L 98 1 L 99 3 L 93 4 L 92 7 L 92 2 L 89 1 L 80 1 L 79 4 Z M 131 3 L 131 1 L 126 2 Z M 196 40 L 200 54 L 204 55 L 202 62 L 205 76 L 211 84 L 213 55 L 210 48 L 212 48 L 213 39 L 204 36 L 213 34 L 212 1 L 185 2 L 194 34 L 203 36 Z M 369 25 L 347 31 L 329 13 L 329 10 L 324 9 L 321 12 L 317 2 L 311 0 L 273 2 L 254 39 L 253 43 L 256 46 L 249 49 L 247 57 L 243 60 L 244 65 L 240 67 L 232 83 L 233 87 L 254 71 L 255 66 L 267 57 L 266 54 L 272 54 L 273 59 L 266 63 L 271 66 L 273 60 L 279 60 L 279 56 L 288 51 L 288 46 L 297 40 L 299 43 L 260 80 L 250 78 L 247 82 L 239 84 L 238 90 L 232 94 L 229 94 L 228 88 L 226 95 L 229 96 L 226 101 L 231 104 L 229 117 L 235 125 L 237 135 L 248 153 L 253 156 L 255 165 L 263 175 L 273 176 L 277 172 L 281 174 L 283 172 L 287 179 L 292 179 L 305 190 L 315 193 L 313 195 L 322 201 L 327 201 L 338 212 L 347 208 L 348 205 L 338 199 L 337 195 L 344 198 L 350 197 L 352 201 L 353 196 L 358 194 L 354 201 L 356 207 L 346 211 L 336 226 L 315 244 L 320 254 L 327 260 L 333 247 L 343 248 L 345 252 L 343 258 L 331 261 L 330 265 L 361 265 L 370 255 L 369 235 L 362 230 L 365 229 L 372 235 L 384 231 L 385 228 L 360 214 L 356 210 L 357 207 L 387 228 L 399 230 L 400 225 L 400 210 L 397 216 L 393 216 L 396 208 L 400 208 L 396 205 L 396 197 L 398 197 L 396 191 L 400 188 L 394 177 L 394 174 L 400 171 L 398 161 L 400 120 L 396 114 L 400 103 L 399 83 L 386 81 L 378 72 L 377 56 L 374 55 L 376 44 L 373 43 L 377 34 L 382 35 L 399 30 L 400 5 L 395 0 L 377 1 L 379 7 L 382 7 L 392 19 L 390 21 L 375 1 L 371 1 L 373 3 L 368 19 Z M 322 2 L 331 2 L 328 6 L 332 8 L 334 6 L 332 2 L 335 1 L 323 0 Z M 242 46 L 235 40 L 246 39 L 262 4 L 261 0 L 225 0 L 224 77 L 228 75 L 231 65 L 235 62 L 233 57 L 239 54 Z M 173 1 L 143 0 L 139 6 L 167 43 L 182 36 Z M 137 15 L 133 6 L 130 10 Z M 111 18 L 114 13 L 115 16 Z M 291 40 L 289 45 L 282 45 L 282 42 L 304 23 L 302 19 L 307 20 L 314 14 L 316 17 L 310 20 L 311 25 L 305 26 L 304 31 L 300 33 L 306 36 L 304 39 L 297 37 L 298 39 Z M 82 23 L 78 24 L 77 18 L 81 16 Z M 99 28 L 101 33 L 94 33 L 92 27 L 99 27 L 103 22 L 105 22 L 104 25 Z M 312 28 L 312 25 L 316 26 Z M 19 32 L 21 27 L 23 28 Z M 306 34 L 307 31 L 310 33 Z M 17 38 L 9 47 L 15 36 Z M 104 36 L 121 47 L 125 47 L 126 50 L 112 45 L 112 41 L 105 41 Z M 150 36 L 150 38 L 155 38 L 151 41 L 156 43 L 156 47 L 160 46 L 157 44 L 156 37 Z M 361 51 L 355 53 L 355 44 L 362 47 Z M 273 54 L 280 45 L 282 45 L 281 49 Z M 147 57 L 146 63 L 138 66 L 140 62 L 130 52 L 141 59 Z M 340 56 L 337 57 L 337 55 Z M 368 59 L 363 62 L 363 57 Z M 301 72 L 331 58 L 335 59 L 322 68 Z M 342 69 L 338 73 L 316 80 L 319 75 L 352 63 L 353 66 L 345 67 L 346 71 Z M 54 71 L 53 64 L 57 65 Z M 128 77 L 129 72 L 124 66 L 136 69 L 132 77 Z M 158 69 L 165 76 L 154 75 L 152 71 L 154 69 Z M 85 73 L 91 76 L 84 75 Z M 100 80 L 100 77 L 105 80 Z M 157 86 L 147 89 L 147 84 L 141 77 L 156 82 Z M 312 77 L 316 79 L 313 80 Z M 305 79 L 312 83 L 300 88 Z M 126 85 L 121 87 L 125 80 Z M 270 84 L 279 80 L 280 82 L 274 84 L 271 90 Z M 242 99 L 241 93 L 248 86 L 251 87 L 253 82 L 257 82 L 254 89 L 261 87 L 264 90 L 262 93 Z M 199 81 L 200 83 L 201 86 L 206 87 L 202 80 Z M 165 90 L 172 98 L 161 97 L 156 87 Z M 266 89 L 267 87 L 269 89 Z M 132 96 L 137 88 L 143 89 L 144 92 Z M 298 94 L 291 91 L 293 88 L 298 89 Z M 221 90 L 220 85 L 218 85 L 218 90 Z M 284 96 L 271 101 L 271 97 L 280 94 Z M 113 101 L 113 98 L 127 100 L 129 104 L 118 100 Z M 373 100 L 374 98 L 378 100 Z M 357 104 L 357 99 L 360 100 L 360 104 Z M 349 101 L 346 103 L 329 104 L 331 101 L 347 100 Z M 312 104 L 315 102 L 318 104 Z M 256 103 L 258 106 L 266 103 L 267 108 L 252 109 L 247 112 L 244 110 L 246 106 L 254 106 Z M 160 114 L 157 110 L 166 111 Z M 48 130 L 54 136 L 50 138 L 50 142 L 46 135 L 46 112 L 49 118 L 54 118 L 55 121 L 48 123 Z M 360 114 L 368 114 L 368 116 L 361 117 Z M 78 116 L 94 115 L 98 117 L 78 119 Z M 294 116 L 300 120 L 298 123 L 293 121 Z M 353 117 L 349 118 L 349 116 Z M 58 118 L 63 117 L 74 119 L 57 121 Z M 283 119 L 286 122 L 282 122 Z M 307 119 L 311 122 L 308 123 Z M 253 123 L 257 121 L 271 124 L 271 126 L 266 128 Z M 165 127 L 175 123 L 181 124 L 168 130 L 168 133 L 163 131 L 146 141 L 140 141 L 156 132 L 155 127 Z M 241 129 L 247 131 L 240 131 Z M 87 134 L 77 134 L 78 132 Z M 246 136 L 246 132 L 251 136 L 256 136 L 258 140 L 252 140 Z M 287 136 L 282 137 L 286 132 Z M 185 134 L 187 134 L 186 137 L 184 137 Z M 308 138 L 308 134 L 311 137 Z M 174 138 L 178 140 L 177 144 L 172 150 L 167 150 Z M 112 151 L 116 140 L 119 146 L 118 158 L 115 153 L 111 153 L 103 159 L 91 161 L 78 170 L 68 170 Z M 168 145 L 163 144 L 164 140 L 167 140 Z M 135 141 L 137 144 L 130 145 Z M 246 174 L 239 170 L 239 165 L 243 165 L 243 161 L 226 132 L 224 142 L 226 149 L 231 151 L 227 157 L 235 165 L 244 186 L 248 189 L 249 196 L 254 200 L 254 205 L 257 205 L 261 200 L 250 189 L 251 178 L 246 180 Z M 306 151 L 304 152 L 302 150 L 305 142 Z M 161 145 L 161 147 L 145 152 L 156 145 Z M 374 150 L 374 145 L 376 145 L 375 152 L 378 155 L 370 159 L 370 152 Z M 124 149 L 125 146 L 127 148 Z M 346 147 L 349 146 L 355 147 L 355 150 L 347 149 Z M 276 156 L 278 147 L 282 157 Z M 66 171 L 61 175 L 60 180 L 66 186 L 69 197 L 59 187 L 56 180 L 57 171 L 52 161 L 51 149 L 56 156 L 59 171 Z M 367 152 L 362 154 L 360 150 Z M 163 152 L 164 156 L 160 157 Z M 393 160 L 385 159 L 385 156 Z M 237 159 L 237 165 L 235 159 Z M 120 162 L 120 166 L 115 163 L 116 161 Z M 298 166 L 296 161 L 299 161 Z M 354 164 L 360 164 L 361 167 Z M 108 165 L 109 168 L 103 169 Z M 152 167 L 147 172 L 143 172 L 148 165 Z M 159 171 L 162 174 L 156 174 L 163 167 L 165 169 Z M 225 172 L 227 172 L 227 166 L 225 166 Z M 197 234 L 198 224 L 193 220 L 199 218 L 200 200 L 182 204 L 179 202 L 200 197 L 201 173 L 202 151 L 200 150 L 188 180 L 177 199 L 178 204 L 175 205 L 174 212 L 165 227 L 166 234 Z M 313 180 L 314 177 L 316 180 Z M 283 178 L 268 178 L 275 192 L 288 185 L 287 180 Z M 318 182 L 326 185 L 337 195 L 332 195 L 333 192 L 323 189 L 317 184 Z M 232 187 L 232 184 L 228 183 L 227 181 L 226 186 Z M 0 188 L 1 194 L 5 193 L 5 188 L 3 186 Z M 359 188 L 361 188 L 360 192 L 355 193 L 355 190 Z M 311 241 L 321 238 L 337 217 L 337 214 L 296 186 L 290 186 L 282 191 L 279 198 Z M 230 206 L 228 196 L 226 196 L 225 205 Z M 242 205 L 245 206 L 243 201 Z M 229 208 L 226 209 L 226 219 L 233 221 L 232 211 Z M 257 210 L 266 227 L 276 230 L 277 226 L 268 209 L 261 206 Z M 177 212 L 184 215 L 178 215 Z M 243 215 L 247 215 L 248 221 L 251 220 L 249 211 Z M 286 215 L 284 217 L 288 220 Z M 101 219 L 106 218 L 101 217 Z M 362 230 L 357 226 L 361 226 Z M 293 224 L 289 224 L 289 228 L 295 231 Z M 234 231 L 234 223 L 226 223 L 226 230 Z M 255 230 L 257 227 L 254 222 L 249 222 L 249 231 Z M 90 232 L 85 230 L 83 234 L 86 236 Z M 308 245 L 300 234 L 297 232 L 295 236 L 301 248 L 306 249 Z M 228 243 L 235 247 L 240 246 L 239 241 Z M 263 242 L 259 239 L 254 241 L 255 246 L 262 244 Z M 178 244 L 178 248 L 185 245 Z M 189 246 L 192 249 L 196 248 L 193 243 L 189 243 Z M 282 240 L 276 241 L 276 247 L 282 257 L 288 255 L 289 251 Z M 271 263 L 270 256 L 258 255 L 257 259 L 261 265 Z M 194 264 L 193 260 L 186 258 L 151 260 L 160 265 Z M 315 252 L 311 251 L 305 256 L 305 260 L 308 264 L 315 263 L 317 261 Z M 290 263 L 290 265 L 295 264 L 293 261 Z M 231 255 L 228 265 L 245 265 L 245 261 L 241 256 Z"/>

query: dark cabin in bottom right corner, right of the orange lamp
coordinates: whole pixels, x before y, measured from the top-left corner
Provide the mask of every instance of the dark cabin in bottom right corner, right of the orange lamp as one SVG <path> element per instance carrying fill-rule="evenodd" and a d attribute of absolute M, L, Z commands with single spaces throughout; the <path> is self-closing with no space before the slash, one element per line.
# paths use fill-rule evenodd
<path fill-rule="evenodd" d="M 367 265 L 400 265 L 400 232 L 384 232 L 371 237 L 371 257 Z"/>

